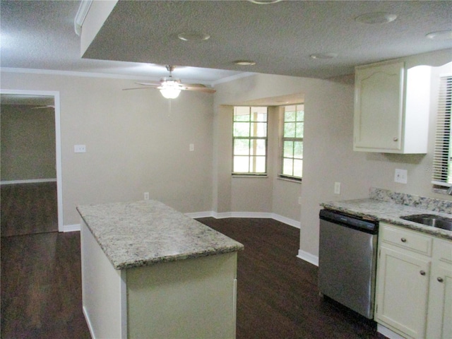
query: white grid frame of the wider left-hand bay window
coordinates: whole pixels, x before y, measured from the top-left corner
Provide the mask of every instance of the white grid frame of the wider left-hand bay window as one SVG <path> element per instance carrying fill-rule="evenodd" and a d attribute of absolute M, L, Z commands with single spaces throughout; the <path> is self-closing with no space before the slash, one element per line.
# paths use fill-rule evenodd
<path fill-rule="evenodd" d="M 236 109 L 243 109 L 243 108 L 249 108 L 249 120 L 248 121 L 237 121 L 235 119 L 236 117 Z M 253 109 L 266 109 L 266 121 L 259 121 L 253 120 L 252 118 L 252 110 Z M 256 112 L 259 113 L 259 112 Z M 241 123 L 241 122 L 247 122 L 249 123 L 249 136 L 235 136 L 235 123 Z M 252 136 L 251 129 L 253 124 L 265 124 L 265 136 Z M 257 125 L 256 125 L 257 126 Z M 239 155 L 235 153 L 234 145 L 236 144 L 237 140 L 248 140 L 249 141 L 249 150 L 251 150 L 251 141 L 264 141 L 265 143 L 265 154 L 264 155 L 257 155 L 257 154 L 251 154 L 249 151 L 248 155 Z M 255 144 L 256 145 L 256 144 Z M 247 157 L 248 158 L 248 172 L 234 172 L 234 159 L 235 157 Z M 250 172 L 251 166 L 251 158 L 254 158 L 254 160 L 257 160 L 258 157 L 264 158 L 264 172 Z M 234 106 L 234 113 L 232 114 L 232 176 L 233 177 L 267 177 L 268 176 L 268 107 L 263 106 Z"/>

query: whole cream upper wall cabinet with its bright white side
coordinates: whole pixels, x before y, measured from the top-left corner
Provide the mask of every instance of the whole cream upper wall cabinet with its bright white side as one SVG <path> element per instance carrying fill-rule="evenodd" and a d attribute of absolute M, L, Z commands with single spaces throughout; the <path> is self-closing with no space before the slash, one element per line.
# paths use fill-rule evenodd
<path fill-rule="evenodd" d="M 353 150 L 427 153 L 430 69 L 405 61 L 356 68 Z"/>

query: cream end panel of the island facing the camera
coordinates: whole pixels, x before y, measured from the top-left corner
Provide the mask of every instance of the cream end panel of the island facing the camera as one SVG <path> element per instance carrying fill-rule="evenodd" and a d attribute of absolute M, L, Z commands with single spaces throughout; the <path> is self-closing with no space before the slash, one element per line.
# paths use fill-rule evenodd
<path fill-rule="evenodd" d="M 129 338 L 235 338 L 236 256 L 127 270 Z"/>

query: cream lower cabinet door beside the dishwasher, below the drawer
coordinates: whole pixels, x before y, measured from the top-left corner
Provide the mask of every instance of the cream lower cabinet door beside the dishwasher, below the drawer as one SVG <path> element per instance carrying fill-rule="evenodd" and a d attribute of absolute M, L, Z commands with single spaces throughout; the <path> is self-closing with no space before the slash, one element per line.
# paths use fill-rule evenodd
<path fill-rule="evenodd" d="M 413 338 L 424 338 L 431 261 L 381 246 L 376 319 Z"/>

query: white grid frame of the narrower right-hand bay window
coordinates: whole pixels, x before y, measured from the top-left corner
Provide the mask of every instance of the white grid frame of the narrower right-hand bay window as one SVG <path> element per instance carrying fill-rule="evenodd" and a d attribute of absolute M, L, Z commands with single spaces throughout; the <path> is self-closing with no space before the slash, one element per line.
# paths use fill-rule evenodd
<path fill-rule="evenodd" d="M 296 175 L 290 175 L 290 174 L 284 174 L 284 160 L 291 159 L 292 162 L 294 160 L 302 160 L 303 161 L 303 152 L 302 152 L 301 159 L 299 157 L 295 157 L 295 154 L 292 157 L 285 156 L 285 154 L 284 154 L 285 141 L 301 142 L 302 146 L 303 146 L 304 145 L 304 131 L 303 131 L 302 137 L 297 137 L 297 136 L 286 137 L 285 136 L 285 124 L 290 123 L 292 121 L 285 121 L 285 114 L 286 114 L 286 107 L 295 107 L 295 109 L 290 112 L 299 112 L 299 109 L 298 109 L 299 106 L 302 106 L 303 119 L 302 119 L 302 121 L 299 121 L 296 117 L 295 121 L 293 121 L 293 122 L 295 122 L 295 124 L 297 124 L 297 122 L 303 122 L 303 130 L 304 130 L 304 102 L 299 102 L 299 103 L 293 104 L 293 105 L 281 106 L 281 112 L 280 112 L 280 168 L 279 168 L 278 177 L 280 179 L 287 179 L 287 180 L 291 180 L 291 181 L 295 181 L 295 182 L 302 182 L 303 177 L 299 177 Z M 294 172 L 294 166 L 292 165 L 292 174 L 293 174 L 293 172 Z M 303 172 L 302 172 L 302 176 L 303 176 Z"/>

